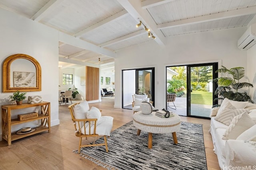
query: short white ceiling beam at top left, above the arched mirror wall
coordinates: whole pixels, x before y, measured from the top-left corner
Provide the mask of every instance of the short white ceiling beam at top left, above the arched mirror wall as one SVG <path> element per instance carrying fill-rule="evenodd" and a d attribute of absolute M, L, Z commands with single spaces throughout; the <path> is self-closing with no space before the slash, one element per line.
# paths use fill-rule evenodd
<path fill-rule="evenodd" d="M 46 15 L 50 14 L 50 12 L 56 8 L 63 0 L 50 0 L 45 4 L 34 16 L 32 16 L 30 19 L 34 21 L 40 21 L 42 18 L 44 18 Z"/>

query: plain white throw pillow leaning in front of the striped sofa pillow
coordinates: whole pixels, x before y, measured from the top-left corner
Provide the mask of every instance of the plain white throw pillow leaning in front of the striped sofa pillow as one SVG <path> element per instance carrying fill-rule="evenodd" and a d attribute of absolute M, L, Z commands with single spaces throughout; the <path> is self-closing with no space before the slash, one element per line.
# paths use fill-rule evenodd
<path fill-rule="evenodd" d="M 255 125 L 254 121 L 250 118 L 248 113 L 244 112 L 234 117 L 228 129 L 225 131 L 222 139 L 236 139 L 244 131 Z"/>

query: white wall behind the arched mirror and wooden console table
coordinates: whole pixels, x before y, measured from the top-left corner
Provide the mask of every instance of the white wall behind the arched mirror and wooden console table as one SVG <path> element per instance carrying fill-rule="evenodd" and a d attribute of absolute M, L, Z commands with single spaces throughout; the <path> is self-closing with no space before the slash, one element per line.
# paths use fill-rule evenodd
<path fill-rule="evenodd" d="M 14 54 L 23 53 L 36 59 L 42 68 L 42 91 L 27 92 L 28 96 L 42 96 L 43 101 L 51 103 L 51 125 L 60 123 L 58 118 L 58 31 L 46 27 L 36 21 L 18 16 L 0 8 L 0 62 Z M 1 65 L 2 66 L 2 65 Z M 21 65 L 20 67 L 24 67 Z M 2 81 L 2 69 L 0 71 Z M 0 105 L 10 104 L 8 96 L 12 93 L 2 92 L 1 83 Z M 27 99 L 27 98 L 26 98 Z M 26 102 L 26 101 L 24 101 Z M 26 113 L 26 110 L 24 111 Z M 12 116 L 18 111 L 12 112 Z M 2 119 L 0 115 L 0 119 Z M 32 126 L 31 123 L 12 127 L 16 131 L 21 127 Z M 2 139 L 2 122 L 0 123 L 0 140 Z"/>

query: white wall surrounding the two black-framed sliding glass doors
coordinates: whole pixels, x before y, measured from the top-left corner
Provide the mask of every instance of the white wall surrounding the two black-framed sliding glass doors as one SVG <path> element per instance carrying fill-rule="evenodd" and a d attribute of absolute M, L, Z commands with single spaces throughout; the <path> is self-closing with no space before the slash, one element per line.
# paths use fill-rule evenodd
<path fill-rule="evenodd" d="M 219 61 L 227 68 L 247 67 L 246 51 L 240 51 L 237 40 L 246 27 L 207 31 L 167 37 L 165 47 L 154 40 L 123 49 L 115 59 L 115 105 L 121 108 L 121 70 L 155 67 L 155 107 L 165 107 L 165 66 Z"/>

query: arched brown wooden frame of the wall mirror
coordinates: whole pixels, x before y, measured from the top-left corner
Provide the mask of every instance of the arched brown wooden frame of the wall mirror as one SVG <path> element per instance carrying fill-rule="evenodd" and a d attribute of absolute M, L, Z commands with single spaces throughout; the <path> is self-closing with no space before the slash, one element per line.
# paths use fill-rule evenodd
<path fill-rule="evenodd" d="M 11 71 L 11 64 L 16 59 L 26 59 L 31 61 L 35 68 L 36 68 L 36 87 L 10 87 L 11 80 L 10 80 L 10 71 Z M 26 55 L 26 54 L 15 54 L 7 57 L 3 63 L 3 92 L 16 92 L 19 90 L 20 92 L 32 92 L 32 91 L 41 91 L 41 66 L 34 59 L 33 57 Z"/>

